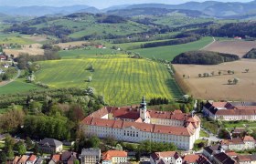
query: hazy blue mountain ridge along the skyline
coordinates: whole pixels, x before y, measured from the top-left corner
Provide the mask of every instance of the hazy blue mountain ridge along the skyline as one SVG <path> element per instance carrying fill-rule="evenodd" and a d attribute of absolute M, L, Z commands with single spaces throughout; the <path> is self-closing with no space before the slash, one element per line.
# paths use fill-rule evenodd
<path fill-rule="evenodd" d="M 242 0 L 241 0 L 242 1 Z M 220 18 L 247 18 L 255 16 L 256 13 L 256 0 L 249 3 L 238 3 L 238 2 L 217 2 L 217 1 L 206 1 L 206 2 L 187 2 L 180 5 L 165 5 L 165 4 L 139 4 L 139 5 L 113 5 L 105 9 L 98 9 L 89 5 L 70 5 L 62 7 L 54 6 L 0 6 L 0 13 L 5 15 L 69 15 L 72 13 L 117 13 L 125 15 L 133 15 L 132 12 L 136 9 L 141 8 L 165 8 L 165 9 L 176 9 L 176 10 L 192 10 L 203 13 L 204 15 L 210 15 L 212 17 Z M 131 14 L 128 14 L 130 10 Z M 113 12 L 114 11 L 114 12 Z M 145 11 L 145 9 L 144 9 Z M 137 11 L 136 11 L 137 12 Z M 143 12 L 142 12 L 143 13 Z M 150 15 L 150 13 L 147 12 Z M 242 15 L 242 16 L 241 16 Z"/>

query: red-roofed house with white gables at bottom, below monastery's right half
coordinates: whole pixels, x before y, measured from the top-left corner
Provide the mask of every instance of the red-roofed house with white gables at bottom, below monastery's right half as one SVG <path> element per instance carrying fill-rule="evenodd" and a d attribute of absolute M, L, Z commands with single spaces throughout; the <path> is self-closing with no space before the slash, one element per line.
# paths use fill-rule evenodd
<path fill-rule="evenodd" d="M 182 164 L 182 158 L 176 151 L 155 152 L 150 156 L 151 164 Z"/>

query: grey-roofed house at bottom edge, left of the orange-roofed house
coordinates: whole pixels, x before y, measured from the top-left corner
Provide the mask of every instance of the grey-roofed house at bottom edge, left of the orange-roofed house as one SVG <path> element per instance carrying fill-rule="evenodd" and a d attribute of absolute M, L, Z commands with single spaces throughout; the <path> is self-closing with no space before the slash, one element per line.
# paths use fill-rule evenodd
<path fill-rule="evenodd" d="M 101 149 L 82 149 L 81 164 L 95 164 L 101 161 Z"/>

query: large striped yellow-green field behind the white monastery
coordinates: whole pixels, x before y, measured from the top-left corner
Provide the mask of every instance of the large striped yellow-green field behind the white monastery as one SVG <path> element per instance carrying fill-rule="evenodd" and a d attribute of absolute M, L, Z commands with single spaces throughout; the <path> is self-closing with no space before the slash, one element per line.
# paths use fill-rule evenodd
<path fill-rule="evenodd" d="M 49 87 L 94 87 L 110 105 L 139 103 L 144 95 L 172 99 L 182 96 L 165 65 L 125 55 L 88 56 L 38 62 L 37 81 Z M 93 66 L 95 71 L 86 70 Z M 87 82 L 88 77 L 92 81 Z"/>

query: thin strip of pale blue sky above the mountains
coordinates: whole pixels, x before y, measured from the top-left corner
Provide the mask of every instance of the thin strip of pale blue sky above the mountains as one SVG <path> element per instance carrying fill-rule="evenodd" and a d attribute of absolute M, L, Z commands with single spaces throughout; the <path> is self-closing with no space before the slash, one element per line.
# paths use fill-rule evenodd
<path fill-rule="evenodd" d="M 205 2 L 205 0 L 97 0 L 97 1 L 84 1 L 84 0 L 0 0 L 0 6 L 29 6 L 29 5 L 48 5 L 48 6 L 67 6 L 67 5 L 90 5 L 97 8 L 107 8 L 113 5 L 135 5 L 135 4 L 144 4 L 144 3 L 155 3 L 155 4 L 168 4 L 176 5 L 183 4 L 186 2 Z M 252 0 L 215 0 L 219 2 L 240 2 L 246 3 L 251 2 Z"/>

